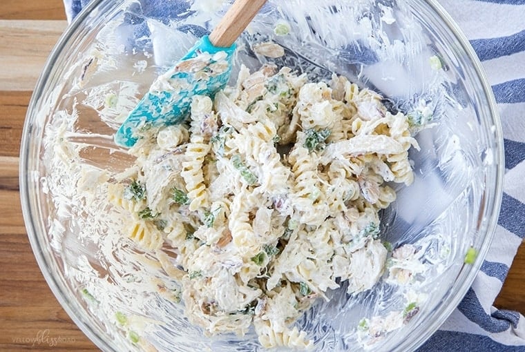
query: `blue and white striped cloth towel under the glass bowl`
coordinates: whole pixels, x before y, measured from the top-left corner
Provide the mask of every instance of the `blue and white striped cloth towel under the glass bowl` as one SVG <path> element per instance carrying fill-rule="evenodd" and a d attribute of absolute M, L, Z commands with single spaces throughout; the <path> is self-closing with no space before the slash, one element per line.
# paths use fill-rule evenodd
<path fill-rule="evenodd" d="M 89 1 L 64 0 L 68 21 Z M 470 39 L 492 85 L 502 117 L 506 175 L 497 232 L 481 272 L 419 352 L 525 352 L 525 317 L 493 307 L 525 237 L 525 0 L 438 1 Z"/>

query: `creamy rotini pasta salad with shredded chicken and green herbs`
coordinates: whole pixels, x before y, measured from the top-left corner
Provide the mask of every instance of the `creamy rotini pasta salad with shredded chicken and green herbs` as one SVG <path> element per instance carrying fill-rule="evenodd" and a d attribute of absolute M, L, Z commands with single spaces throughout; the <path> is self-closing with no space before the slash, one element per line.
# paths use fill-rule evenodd
<path fill-rule="evenodd" d="M 181 286 L 208 334 L 254 326 L 265 347 L 312 346 L 295 320 L 329 289 L 359 293 L 385 271 L 379 211 L 414 175 L 403 113 L 334 75 L 242 67 L 196 96 L 188 124 L 144 126 L 135 164 L 109 185 L 123 229 Z"/>

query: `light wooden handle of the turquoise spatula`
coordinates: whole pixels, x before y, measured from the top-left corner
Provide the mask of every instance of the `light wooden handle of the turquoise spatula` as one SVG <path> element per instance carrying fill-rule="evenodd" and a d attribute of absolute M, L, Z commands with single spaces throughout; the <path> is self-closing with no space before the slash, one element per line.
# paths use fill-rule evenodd
<path fill-rule="evenodd" d="M 236 0 L 209 35 L 214 46 L 228 48 L 254 19 L 266 0 Z"/>

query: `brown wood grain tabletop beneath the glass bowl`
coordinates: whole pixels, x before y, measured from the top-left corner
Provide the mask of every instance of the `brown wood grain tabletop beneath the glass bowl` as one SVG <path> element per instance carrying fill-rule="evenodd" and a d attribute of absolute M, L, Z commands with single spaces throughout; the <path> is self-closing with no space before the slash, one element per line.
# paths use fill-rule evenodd
<path fill-rule="evenodd" d="M 98 351 L 61 309 L 33 256 L 19 200 L 19 144 L 31 91 L 61 31 L 61 0 L 0 2 L 0 350 Z M 495 306 L 525 313 L 525 246 Z"/>

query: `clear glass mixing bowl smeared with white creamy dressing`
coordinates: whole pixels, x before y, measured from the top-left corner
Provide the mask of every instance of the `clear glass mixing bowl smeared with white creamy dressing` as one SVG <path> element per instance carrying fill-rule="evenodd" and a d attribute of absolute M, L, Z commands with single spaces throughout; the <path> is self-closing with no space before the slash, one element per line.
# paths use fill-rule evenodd
<path fill-rule="evenodd" d="M 191 326 L 182 303 L 166 299 L 173 288 L 155 260 L 111 228 L 112 208 L 95 186 L 100 170 L 132 162 L 113 143 L 126 112 L 229 3 L 95 0 L 57 43 L 30 101 L 20 163 L 30 243 L 61 305 L 104 351 L 262 349 L 253 331 L 209 338 Z M 403 289 L 382 280 L 357 295 L 331 291 L 297 322 L 317 351 L 416 349 L 468 290 L 497 224 L 502 133 L 479 61 L 434 0 L 271 0 L 238 39 L 236 69 L 270 60 L 250 50 L 269 39 L 285 48 L 279 66 L 311 79 L 345 75 L 416 126 L 432 119 L 410 154 L 414 184 L 398 186 L 381 213 L 385 241 L 418 249 L 423 270 L 409 291 L 419 312 L 387 338 L 363 339 L 363 317 L 388 317 L 406 303 Z"/>

